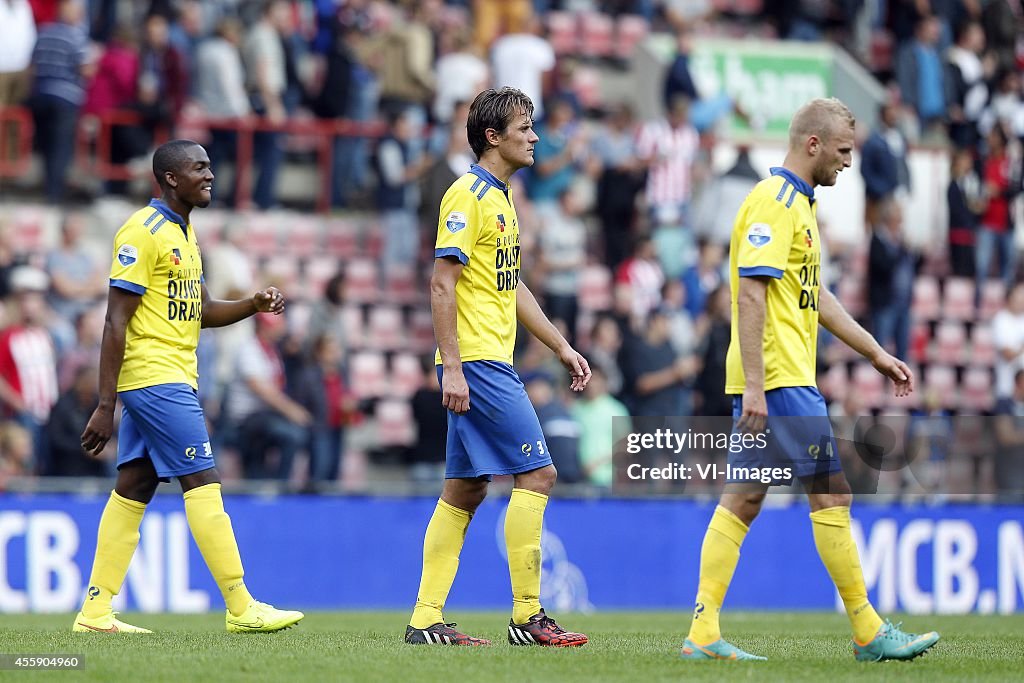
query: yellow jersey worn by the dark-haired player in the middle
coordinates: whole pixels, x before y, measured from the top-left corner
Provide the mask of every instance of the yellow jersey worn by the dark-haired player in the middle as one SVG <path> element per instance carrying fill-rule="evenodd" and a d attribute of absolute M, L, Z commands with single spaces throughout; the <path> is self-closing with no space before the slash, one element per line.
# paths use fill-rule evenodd
<path fill-rule="evenodd" d="M 445 256 L 465 266 L 455 290 L 462 360 L 511 364 L 519 219 L 511 188 L 475 164 L 441 200 L 434 258 Z M 439 351 L 434 361 L 440 365 Z"/>

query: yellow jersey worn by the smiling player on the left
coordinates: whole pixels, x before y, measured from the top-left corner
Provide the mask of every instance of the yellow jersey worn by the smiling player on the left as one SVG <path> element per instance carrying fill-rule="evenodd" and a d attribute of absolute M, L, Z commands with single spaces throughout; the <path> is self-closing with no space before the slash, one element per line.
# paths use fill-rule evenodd
<path fill-rule="evenodd" d="M 142 299 L 128 322 L 118 391 L 171 383 L 198 388 L 202 283 L 196 232 L 166 204 L 153 200 L 121 226 L 111 287 Z"/>

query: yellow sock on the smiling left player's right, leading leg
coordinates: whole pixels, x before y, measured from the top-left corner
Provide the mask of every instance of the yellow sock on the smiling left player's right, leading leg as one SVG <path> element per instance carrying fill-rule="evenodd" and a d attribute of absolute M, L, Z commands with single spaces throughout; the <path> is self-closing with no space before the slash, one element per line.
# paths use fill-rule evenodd
<path fill-rule="evenodd" d="M 224 512 L 219 483 L 208 483 L 184 493 L 185 518 L 206 566 L 217 582 L 224 604 L 234 616 L 242 614 L 252 596 L 242 581 L 242 557 L 234 541 L 231 518 Z"/>

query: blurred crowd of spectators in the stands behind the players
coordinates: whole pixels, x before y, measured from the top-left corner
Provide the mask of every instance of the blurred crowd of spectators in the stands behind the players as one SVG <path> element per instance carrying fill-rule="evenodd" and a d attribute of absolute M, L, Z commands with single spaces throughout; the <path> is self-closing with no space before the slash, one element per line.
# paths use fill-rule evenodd
<path fill-rule="evenodd" d="M 634 13 L 651 30 L 674 33 L 664 111 L 640 121 L 628 98 L 585 108 L 572 60 L 556 58 L 546 36 L 552 9 Z M 613 417 L 731 413 L 722 391 L 728 238 L 735 207 L 760 175 L 745 146 L 731 168 L 713 174 L 707 142 L 724 117 L 756 127 L 757 116 L 721 93 L 697 91 L 689 50 L 694 27 L 708 20 L 830 40 L 865 63 L 876 30 L 894 37 L 892 60 L 868 65 L 892 80 L 861 161 L 860 274 L 869 290 L 862 319 L 881 341 L 901 356 L 913 353 L 914 283 L 929 267 L 902 229 L 908 189 L 926 181 L 910 176 L 912 143 L 951 150 L 949 254 L 937 272 L 976 279 L 979 310 L 990 274 L 1013 286 L 1024 104 L 1017 34 L 1008 38 L 1006 27 L 1020 20 L 1018 0 L 765 2 L 761 11 L 724 13 L 677 0 L 0 0 L 0 106 L 31 108 L 44 193 L 54 204 L 68 198 L 76 130 L 112 111 L 142 122 L 114 129 L 115 162 L 144 156 L 154 131 L 173 132 L 183 120 L 266 124 L 254 140 L 252 201 L 260 209 L 279 205 L 290 121 L 384 121 L 379 139 L 337 136 L 332 168 L 333 204 L 374 216 L 384 287 L 404 273 L 422 283 L 429 272 L 440 196 L 473 161 L 463 132 L 468 100 L 490 85 L 520 87 L 537 103 L 541 136 L 535 166 L 513 178 L 523 224 L 537 228 L 524 231 L 531 266 L 522 276 L 590 358 L 595 379 L 584 395 L 568 396 L 560 367 L 524 335 L 517 368 L 562 480 L 607 487 Z M 37 37 L 28 40 L 30 32 Z M 228 172 L 238 133 L 216 125 L 201 132 L 218 175 L 217 202 L 230 209 L 242 170 Z M 104 187 L 130 191 L 122 181 Z M 202 212 L 196 221 L 202 234 Z M 111 464 L 75 453 L 76 430 L 95 400 L 106 270 L 106 245 L 86 244 L 82 232 L 81 214 L 68 212 L 59 244 L 28 264 L 0 243 L 0 483 L 17 473 L 102 473 Z M 247 254 L 246 227 L 229 223 L 219 237 L 204 250 L 211 293 L 246 296 L 264 284 L 263 264 Z M 834 257 L 856 267 L 849 254 Z M 204 334 L 201 394 L 215 447 L 238 454 L 240 476 L 333 482 L 345 476 L 352 434 L 379 415 L 350 383 L 346 265 L 337 263 L 323 295 L 300 295 L 309 308 L 301 324 L 258 317 Z M 581 302 L 595 265 L 611 275 L 597 309 Z M 1024 323 L 1010 301 L 993 337 L 998 362 L 1016 368 Z M 412 305 L 422 310 L 425 300 Z M 1002 337 L 1017 347 L 1001 345 Z M 821 357 L 835 359 L 827 350 Z M 409 399 L 418 429 L 403 451 L 384 455 L 430 480 L 444 439 L 432 358 L 419 376 Z M 997 397 L 1011 398 L 1013 387 L 1006 392 Z"/>

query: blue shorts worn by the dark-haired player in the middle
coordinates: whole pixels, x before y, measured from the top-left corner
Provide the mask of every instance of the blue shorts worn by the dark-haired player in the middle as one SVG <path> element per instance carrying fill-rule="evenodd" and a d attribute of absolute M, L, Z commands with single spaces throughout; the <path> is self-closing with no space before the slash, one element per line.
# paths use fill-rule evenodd
<path fill-rule="evenodd" d="M 519 474 L 551 464 L 541 421 L 515 370 L 498 360 L 462 364 L 469 412 L 447 412 L 445 479 Z M 444 374 L 437 366 L 437 379 Z"/>

